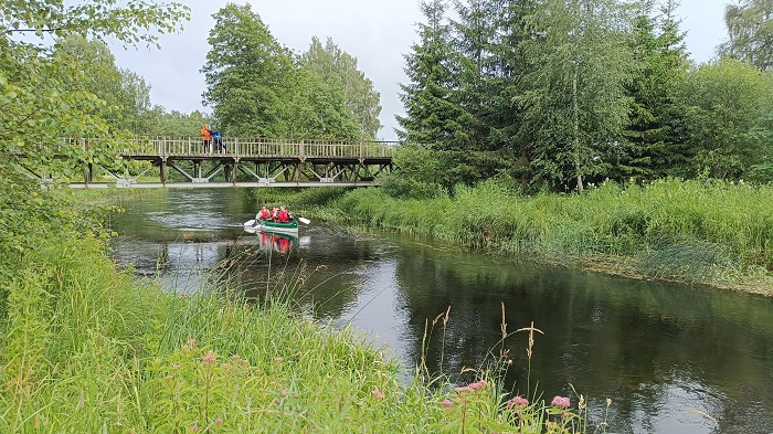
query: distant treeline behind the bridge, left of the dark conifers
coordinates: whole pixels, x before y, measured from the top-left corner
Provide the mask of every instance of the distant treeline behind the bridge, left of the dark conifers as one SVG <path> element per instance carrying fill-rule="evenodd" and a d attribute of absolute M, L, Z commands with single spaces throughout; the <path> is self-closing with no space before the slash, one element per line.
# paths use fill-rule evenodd
<path fill-rule="evenodd" d="M 145 78 L 118 68 L 102 40 L 70 35 L 54 53 L 89 65 L 70 86 L 104 102 L 92 114 L 114 131 L 195 136 L 207 123 L 231 136 L 375 139 L 380 95 L 357 70 L 357 59 L 332 40 L 322 44 L 314 38 L 308 51 L 297 55 L 274 39 L 250 6 L 227 4 L 214 18 L 219 25 L 210 31 L 212 46 L 202 68 L 202 98 L 213 108 L 211 115 L 151 105 Z"/>

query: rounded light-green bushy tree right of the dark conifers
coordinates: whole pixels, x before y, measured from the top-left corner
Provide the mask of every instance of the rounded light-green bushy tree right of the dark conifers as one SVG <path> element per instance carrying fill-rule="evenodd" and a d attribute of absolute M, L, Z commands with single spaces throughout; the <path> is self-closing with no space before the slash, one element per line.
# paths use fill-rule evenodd
<path fill-rule="evenodd" d="M 690 72 L 680 87 L 688 107 L 687 176 L 738 179 L 773 156 L 773 80 L 746 62 L 721 60 Z"/>

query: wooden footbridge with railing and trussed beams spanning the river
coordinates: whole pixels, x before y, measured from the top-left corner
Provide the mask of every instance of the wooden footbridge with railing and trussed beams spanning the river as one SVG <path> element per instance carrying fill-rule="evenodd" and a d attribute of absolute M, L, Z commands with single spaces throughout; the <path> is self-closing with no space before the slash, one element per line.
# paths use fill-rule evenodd
<path fill-rule="evenodd" d="M 86 148 L 91 144 L 76 141 Z M 84 162 L 83 182 L 70 187 L 372 187 L 379 186 L 379 176 L 391 172 L 398 142 L 229 137 L 222 146 L 204 147 L 199 137 L 156 137 L 136 139 L 135 145 L 120 158 L 144 161 L 135 165 L 136 173 Z M 169 169 L 176 174 L 170 176 Z M 97 181 L 95 170 L 108 181 Z"/>

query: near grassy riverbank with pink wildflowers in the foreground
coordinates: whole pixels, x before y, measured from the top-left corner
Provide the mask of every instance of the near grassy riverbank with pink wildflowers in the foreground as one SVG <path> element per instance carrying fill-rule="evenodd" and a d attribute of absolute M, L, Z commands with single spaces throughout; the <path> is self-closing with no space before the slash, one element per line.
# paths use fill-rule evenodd
<path fill-rule="evenodd" d="M 165 294 L 116 271 L 97 239 L 29 242 L 2 282 L 0 432 L 586 431 L 569 401 L 511 401 L 496 371 L 405 385 L 366 338 L 283 300 L 256 306 L 227 283 Z"/>

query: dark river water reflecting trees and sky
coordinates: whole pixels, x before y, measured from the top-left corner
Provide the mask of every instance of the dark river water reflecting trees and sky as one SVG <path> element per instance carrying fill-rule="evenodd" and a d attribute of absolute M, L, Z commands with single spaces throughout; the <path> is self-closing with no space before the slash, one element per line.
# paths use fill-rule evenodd
<path fill-rule="evenodd" d="M 458 381 L 505 352 L 508 391 L 576 405 L 573 387 L 596 423 L 611 398 L 610 433 L 773 433 L 773 299 L 316 221 L 298 236 L 251 234 L 242 222 L 257 203 L 240 189 L 155 191 L 124 208 L 110 219 L 119 264 L 168 290 L 220 279 L 250 296 L 282 293 L 321 324 L 369 334 L 407 375 L 422 352 L 430 371 Z M 528 332 L 512 332 L 532 321 L 529 370 Z"/>

